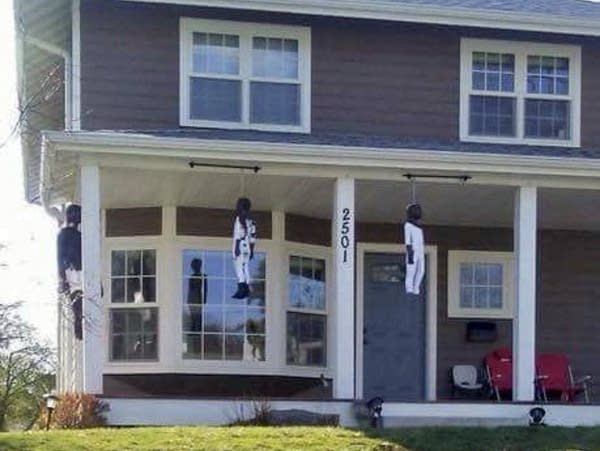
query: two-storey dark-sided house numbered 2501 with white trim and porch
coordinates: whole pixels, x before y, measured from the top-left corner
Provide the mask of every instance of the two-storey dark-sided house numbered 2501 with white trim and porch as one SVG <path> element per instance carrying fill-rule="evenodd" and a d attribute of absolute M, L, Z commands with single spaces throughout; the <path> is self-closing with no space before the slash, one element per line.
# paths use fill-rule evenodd
<path fill-rule="evenodd" d="M 375 395 L 404 424 L 524 423 L 536 354 L 600 378 L 600 4 L 15 6 L 27 197 L 83 211 L 86 327 L 61 310 L 59 389 L 112 424 L 222 423 L 257 397 L 353 424 Z M 237 301 L 241 196 L 259 239 Z M 452 398 L 450 368 L 502 347 L 512 400 Z M 593 391 L 547 422 L 600 424 Z"/>

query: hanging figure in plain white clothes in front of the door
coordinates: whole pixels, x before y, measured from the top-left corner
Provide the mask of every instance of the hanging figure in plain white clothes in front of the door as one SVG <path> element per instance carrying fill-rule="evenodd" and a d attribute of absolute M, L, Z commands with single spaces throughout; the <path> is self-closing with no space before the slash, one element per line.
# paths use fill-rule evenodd
<path fill-rule="evenodd" d="M 413 203 L 406 207 L 404 244 L 406 245 L 406 292 L 421 294 L 425 276 L 425 239 L 421 228 L 421 206 Z"/>

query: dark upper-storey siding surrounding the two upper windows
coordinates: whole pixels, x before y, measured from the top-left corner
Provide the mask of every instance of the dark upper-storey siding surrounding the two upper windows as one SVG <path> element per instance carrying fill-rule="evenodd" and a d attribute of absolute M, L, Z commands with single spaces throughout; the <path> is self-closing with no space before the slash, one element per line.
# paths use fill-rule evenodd
<path fill-rule="evenodd" d="M 179 18 L 308 25 L 312 130 L 458 140 L 461 36 L 583 46 L 582 144 L 600 145 L 600 41 L 115 0 L 82 2 L 83 128 L 179 128 Z"/>

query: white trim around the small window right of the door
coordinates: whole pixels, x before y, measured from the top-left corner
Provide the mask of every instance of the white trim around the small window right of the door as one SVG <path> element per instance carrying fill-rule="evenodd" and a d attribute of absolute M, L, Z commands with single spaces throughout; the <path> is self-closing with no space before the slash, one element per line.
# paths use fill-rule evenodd
<path fill-rule="evenodd" d="M 512 319 L 514 305 L 513 253 L 488 251 L 448 251 L 448 317 Z M 502 309 L 476 309 L 460 306 L 460 264 L 502 264 Z"/>

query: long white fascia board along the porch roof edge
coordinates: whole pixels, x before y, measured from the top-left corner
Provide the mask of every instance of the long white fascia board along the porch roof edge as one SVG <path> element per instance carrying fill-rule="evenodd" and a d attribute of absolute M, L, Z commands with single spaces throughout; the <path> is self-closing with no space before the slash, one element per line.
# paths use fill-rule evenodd
<path fill-rule="evenodd" d="M 124 133 L 45 132 L 44 148 L 94 155 L 247 161 L 346 168 L 406 168 L 507 175 L 600 177 L 600 159 L 189 139 Z M 574 154 L 577 150 L 573 151 Z"/>

